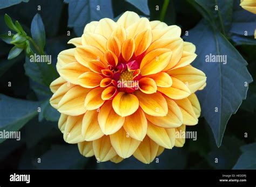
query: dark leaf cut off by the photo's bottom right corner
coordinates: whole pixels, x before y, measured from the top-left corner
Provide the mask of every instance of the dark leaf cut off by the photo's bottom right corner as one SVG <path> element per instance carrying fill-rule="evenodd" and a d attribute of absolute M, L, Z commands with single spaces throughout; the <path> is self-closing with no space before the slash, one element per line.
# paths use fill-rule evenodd
<path fill-rule="evenodd" d="M 240 147 L 242 154 L 233 169 L 256 169 L 256 143 Z"/>

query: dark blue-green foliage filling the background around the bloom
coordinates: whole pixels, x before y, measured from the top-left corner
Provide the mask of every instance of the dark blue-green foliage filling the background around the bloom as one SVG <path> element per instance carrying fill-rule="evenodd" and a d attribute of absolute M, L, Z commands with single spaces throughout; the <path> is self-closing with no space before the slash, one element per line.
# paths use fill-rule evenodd
<path fill-rule="evenodd" d="M 256 78 L 255 15 L 242 9 L 237 0 L 167 2 L 0 1 L 0 33 L 9 31 L 4 23 L 5 13 L 18 20 L 28 34 L 33 17 L 39 13 L 46 34 L 44 50 L 52 55 L 55 67 L 58 53 L 72 47 L 66 43 L 79 36 L 86 23 L 104 17 L 117 19 L 126 10 L 150 20 L 159 20 L 163 18 L 160 12 L 166 4 L 164 22 L 180 26 L 181 35 L 188 31 L 188 36 L 184 35 L 183 39 L 192 41 L 198 54 L 192 65 L 203 70 L 208 77 L 206 89 L 198 95 L 204 117 L 199 119 L 198 125 L 187 128 L 188 131 L 197 131 L 198 140 L 186 140 L 183 148 L 165 149 L 159 156 L 159 163 L 147 165 L 133 157 L 118 164 L 97 163 L 95 157 L 85 158 L 79 154 L 76 145 L 63 141 L 58 130 L 59 114 L 48 103 L 51 92 L 47 84 L 54 77 L 47 74 L 44 67 L 32 67 L 25 62 L 24 53 L 7 60 L 13 46 L 0 41 L 0 130 L 21 130 L 21 141 L 0 141 L 0 169 L 256 169 L 256 85 L 251 83 L 248 92 L 248 87 L 242 85 L 245 81 L 252 82 L 251 76 Z M 100 13 L 90 11 L 98 4 Z M 216 4 L 219 11 L 214 10 Z M 245 30 L 248 30 L 248 36 L 244 35 Z M 221 73 L 215 68 L 216 64 L 204 62 L 206 54 L 218 54 L 218 50 L 220 54 L 228 55 Z M 8 87 L 8 82 L 11 82 L 11 87 Z M 247 98 L 242 101 L 246 92 Z M 219 114 L 206 110 L 216 103 L 221 104 Z M 38 106 L 42 108 L 39 114 Z M 232 113 L 235 114 L 228 120 Z M 37 163 L 38 158 L 41 163 Z M 218 158 L 218 163 L 215 163 L 215 158 Z"/>

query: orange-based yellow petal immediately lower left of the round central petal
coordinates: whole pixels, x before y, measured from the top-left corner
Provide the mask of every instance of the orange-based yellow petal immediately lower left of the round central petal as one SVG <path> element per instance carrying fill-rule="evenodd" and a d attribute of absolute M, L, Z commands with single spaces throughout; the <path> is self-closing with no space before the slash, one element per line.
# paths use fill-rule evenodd
<path fill-rule="evenodd" d="M 107 100 L 100 107 L 98 123 L 102 132 L 106 135 L 117 132 L 124 124 L 125 118 L 119 116 L 112 108 L 112 100 Z"/>

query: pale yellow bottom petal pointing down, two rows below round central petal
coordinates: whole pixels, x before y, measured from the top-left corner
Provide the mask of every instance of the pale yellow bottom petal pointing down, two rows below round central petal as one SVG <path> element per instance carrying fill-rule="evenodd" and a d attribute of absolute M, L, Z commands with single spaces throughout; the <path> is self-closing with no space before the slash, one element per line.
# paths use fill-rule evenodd
<path fill-rule="evenodd" d="M 121 128 L 114 134 L 110 135 L 111 144 L 116 153 L 126 159 L 130 157 L 138 148 L 140 141 L 133 139 L 127 135 L 124 128 Z"/>

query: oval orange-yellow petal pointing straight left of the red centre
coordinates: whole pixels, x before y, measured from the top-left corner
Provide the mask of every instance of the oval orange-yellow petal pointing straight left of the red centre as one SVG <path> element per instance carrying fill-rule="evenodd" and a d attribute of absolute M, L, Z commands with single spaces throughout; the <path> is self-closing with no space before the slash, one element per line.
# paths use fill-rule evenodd
<path fill-rule="evenodd" d="M 84 88 L 98 87 L 103 77 L 95 72 L 87 71 L 78 77 L 78 83 Z"/>

